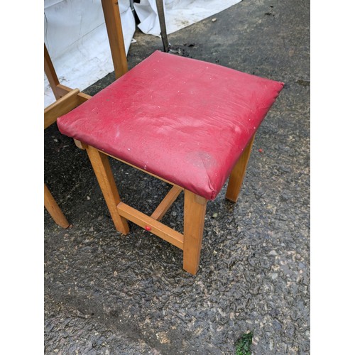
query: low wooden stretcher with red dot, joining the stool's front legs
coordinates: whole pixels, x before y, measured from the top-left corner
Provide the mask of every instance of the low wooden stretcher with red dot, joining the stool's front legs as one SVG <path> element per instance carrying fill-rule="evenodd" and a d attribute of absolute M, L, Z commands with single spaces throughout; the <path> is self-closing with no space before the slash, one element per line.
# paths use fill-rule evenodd
<path fill-rule="evenodd" d="M 163 223 L 155 221 L 155 219 L 147 216 L 146 214 L 143 214 L 128 204 L 124 204 L 123 202 L 118 204 L 117 209 L 119 210 L 119 214 L 121 214 L 122 217 L 129 219 L 131 222 L 138 224 L 138 226 L 141 226 L 144 229 L 146 229 L 146 226 L 148 226 L 151 233 L 159 236 L 165 241 L 168 241 L 170 244 L 183 249 L 184 236 L 178 231 L 165 226 Z"/>

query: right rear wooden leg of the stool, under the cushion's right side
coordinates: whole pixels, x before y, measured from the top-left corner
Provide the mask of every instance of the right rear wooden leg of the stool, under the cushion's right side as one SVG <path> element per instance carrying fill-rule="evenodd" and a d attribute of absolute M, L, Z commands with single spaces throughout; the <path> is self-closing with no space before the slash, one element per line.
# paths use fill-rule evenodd
<path fill-rule="evenodd" d="M 246 165 L 248 165 L 249 156 L 251 153 L 251 147 L 253 146 L 254 136 L 249 141 L 248 145 L 244 149 L 240 158 L 234 165 L 231 175 L 229 176 L 228 187 L 226 188 L 226 199 L 236 202 L 239 191 L 241 190 L 241 184 L 243 183 L 244 175 L 246 172 Z"/>

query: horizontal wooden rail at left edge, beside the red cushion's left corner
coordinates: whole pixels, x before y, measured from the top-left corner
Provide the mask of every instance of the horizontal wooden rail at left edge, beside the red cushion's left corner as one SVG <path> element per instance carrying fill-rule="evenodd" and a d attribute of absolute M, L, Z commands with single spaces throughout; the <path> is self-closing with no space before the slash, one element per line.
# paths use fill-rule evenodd
<path fill-rule="evenodd" d="M 77 97 L 79 89 L 74 89 L 68 92 L 63 97 L 60 97 L 56 102 L 50 104 L 44 110 L 44 126 L 45 129 L 57 121 L 59 116 L 67 114 L 72 109 L 80 105 L 80 100 Z"/>

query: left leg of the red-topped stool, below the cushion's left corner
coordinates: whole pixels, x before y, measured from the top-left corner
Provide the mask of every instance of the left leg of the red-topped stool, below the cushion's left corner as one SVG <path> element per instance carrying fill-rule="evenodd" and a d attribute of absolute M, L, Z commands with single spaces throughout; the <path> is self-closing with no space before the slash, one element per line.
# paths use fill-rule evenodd
<path fill-rule="evenodd" d="M 129 233 L 129 225 L 124 217 L 121 217 L 117 204 L 121 202 L 119 198 L 119 191 L 117 190 L 116 183 L 114 182 L 114 175 L 112 174 L 109 158 L 106 154 L 99 152 L 92 146 L 87 146 L 87 155 L 92 163 L 92 168 L 97 177 L 97 181 L 102 190 L 102 195 L 109 207 L 112 220 L 116 229 L 122 234 Z"/>

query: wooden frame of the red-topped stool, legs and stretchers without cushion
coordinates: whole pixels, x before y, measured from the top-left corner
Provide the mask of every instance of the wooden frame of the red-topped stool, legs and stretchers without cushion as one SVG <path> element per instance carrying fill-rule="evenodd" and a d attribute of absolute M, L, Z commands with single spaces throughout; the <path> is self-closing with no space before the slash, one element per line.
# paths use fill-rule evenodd
<path fill-rule="evenodd" d="M 246 166 L 248 164 L 251 147 L 253 146 L 254 136 L 249 141 L 248 145 L 241 154 L 239 160 L 234 165 L 226 190 L 226 199 L 236 202 L 241 185 L 244 180 Z M 168 241 L 170 244 L 177 246 L 183 251 L 183 266 L 182 268 L 195 275 L 200 264 L 200 252 L 202 247 L 202 236 L 204 231 L 204 217 L 206 214 L 207 199 L 202 196 L 196 195 L 190 190 L 184 189 L 178 185 L 173 184 L 168 180 L 160 178 L 157 175 L 148 173 L 146 170 L 136 167 L 124 160 L 116 158 L 112 155 L 99 151 L 93 146 L 89 146 L 84 142 L 74 140 L 75 144 L 87 151 L 92 168 L 96 175 L 99 186 L 104 195 L 107 207 L 111 214 L 112 221 L 116 230 L 126 235 L 129 233 L 129 224 L 127 220 L 141 226 L 142 228 L 150 231 L 151 233 L 159 236 L 161 239 Z M 155 178 L 168 182 L 172 185 L 171 190 L 160 202 L 151 216 L 143 214 L 134 209 L 133 207 L 121 201 L 119 191 L 114 180 L 114 175 L 111 171 L 109 164 L 109 156 L 123 163 L 133 166 L 138 170 L 148 173 Z M 184 191 L 184 233 L 166 226 L 160 222 L 164 214 L 168 211 L 169 207 L 178 198 L 180 192 Z"/>

